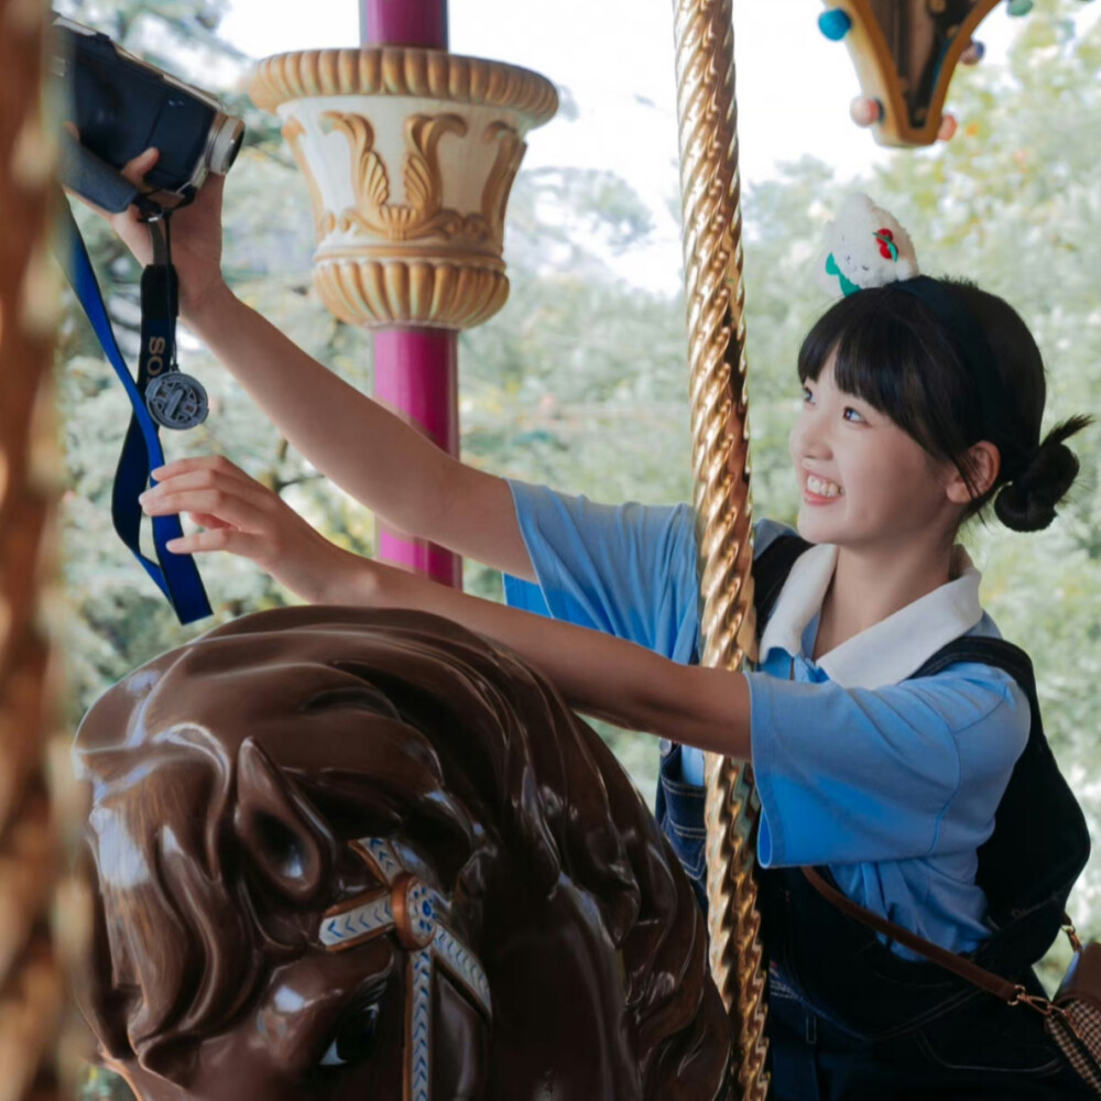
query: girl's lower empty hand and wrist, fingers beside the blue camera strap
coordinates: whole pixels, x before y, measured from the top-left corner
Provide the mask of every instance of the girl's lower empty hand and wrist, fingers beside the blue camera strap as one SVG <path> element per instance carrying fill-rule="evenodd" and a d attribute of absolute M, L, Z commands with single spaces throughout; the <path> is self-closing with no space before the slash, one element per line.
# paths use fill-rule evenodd
<path fill-rule="evenodd" d="M 366 604 L 377 595 L 368 558 L 334 546 L 265 486 L 221 456 L 179 459 L 153 471 L 139 500 L 148 515 L 186 512 L 206 531 L 171 539 L 173 554 L 228 550 L 310 603 Z"/>

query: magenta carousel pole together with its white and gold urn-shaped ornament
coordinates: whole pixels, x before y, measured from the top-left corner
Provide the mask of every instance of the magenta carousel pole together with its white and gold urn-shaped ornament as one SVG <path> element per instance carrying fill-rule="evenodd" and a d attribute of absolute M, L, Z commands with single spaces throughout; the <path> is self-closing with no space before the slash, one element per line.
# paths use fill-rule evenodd
<path fill-rule="evenodd" d="M 372 330 L 375 396 L 457 455 L 458 334 L 509 296 L 509 193 L 558 96 L 535 73 L 448 53 L 445 0 L 361 2 L 359 50 L 265 58 L 250 94 L 282 118 L 309 185 L 318 295 Z M 379 555 L 460 584 L 456 555 L 404 533 L 381 528 Z"/>

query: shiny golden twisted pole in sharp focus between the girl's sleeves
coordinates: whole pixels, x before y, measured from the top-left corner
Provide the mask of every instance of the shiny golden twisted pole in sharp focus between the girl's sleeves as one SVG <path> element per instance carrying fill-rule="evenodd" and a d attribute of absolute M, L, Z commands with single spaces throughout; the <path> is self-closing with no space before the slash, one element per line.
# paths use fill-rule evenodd
<path fill-rule="evenodd" d="M 702 664 L 753 650 L 745 292 L 732 0 L 675 0 L 685 297 Z M 740 1097 L 767 1093 L 764 972 L 753 877 L 759 804 L 749 765 L 708 754 L 711 973 L 738 1033 Z"/>

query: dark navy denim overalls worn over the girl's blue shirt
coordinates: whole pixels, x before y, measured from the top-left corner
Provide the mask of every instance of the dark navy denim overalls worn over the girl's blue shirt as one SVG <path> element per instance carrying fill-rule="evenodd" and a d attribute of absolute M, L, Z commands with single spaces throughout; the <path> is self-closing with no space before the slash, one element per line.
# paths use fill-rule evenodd
<path fill-rule="evenodd" d="M 809 544 L 784 536 L 754 565 L 763 625 Z M 1059 931 L 1067 895 L 1089 857 L 1089 830 L 1044 735 L 1027 655 L 963 636 L 914 677 L 956 662 L 1007 672 L 1028 698 L 1028 742 L 979 849 L 977 882 L 991 936 L 969 955 L 1040 993 L 1032 964 Z M 704 792 L 682 782 L 680 746 L 662 760 L 657 819 L 706 902 Z M 819 868 L 833 882 L 828 868 Z M 1025 1006 L 1009 1006 L 927 961 L 903 959 L 827 902 L 797 868 L 760 869 L 768 961 L 772 1101 L 991 1101 L 1092 1097 Z"/>

